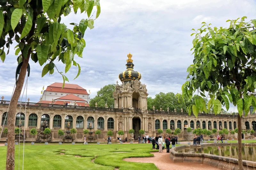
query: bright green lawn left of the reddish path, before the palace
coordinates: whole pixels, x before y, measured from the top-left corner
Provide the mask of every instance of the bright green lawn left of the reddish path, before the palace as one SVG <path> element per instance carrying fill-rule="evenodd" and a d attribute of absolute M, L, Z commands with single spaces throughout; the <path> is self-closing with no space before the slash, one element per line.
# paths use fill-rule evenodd
<path fill-rule="evenodd" d="M 0 147 L 0 169 L 5 169 L 6 146 Z M 61 151 L 65 150 L 65 151 Z M 61 155 L 61 153 L 65 153 Z M 128 153 L 120 153 L 128 152 Z M 152 144 L 88 144 L 88 145 L 25 145 L 25 170 L 131 170 L 143 167 L 157 170 L 152 163 L 126 162 L 130 157 L 152 157 Z M 20 145 L 20 169 L 22 169 L 23 145 Z M 75 157 L 79 155 L 81 157 Z M 18 170 L 19 146 L 15 147 L 15 170 Z M 94 159 L 93 163 L 91 160 Z"/>

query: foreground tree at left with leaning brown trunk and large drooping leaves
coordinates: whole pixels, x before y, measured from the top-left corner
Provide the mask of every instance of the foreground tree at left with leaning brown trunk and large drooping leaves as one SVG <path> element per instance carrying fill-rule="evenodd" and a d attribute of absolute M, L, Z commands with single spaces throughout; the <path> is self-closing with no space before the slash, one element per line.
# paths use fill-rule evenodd
<path fill-rule="evenodd" d="M 6 154 L 6 170 L 14 169 L 14 128 L 18 99 L 24 84 L 29 60 L 43 66 L 42 77 L 57 71 L 63 78 L 63 87 L 68 78 L 55 63 L 61 61 L 65 65 L 65 73 L 71 65 L 80 66 L 75 62 L 74 55 L 82 57 L 85 47 L 84 32 L 94 26 L 91 14 L 97 8 L 95 18 L 100 15 L 99 0 L 4 0 L 0 1 L 0 58 L 5 61 L 13 41 L 18 63 L 22 62 L 19 78 L 12 95 L 8 111 L 8 140 Z M 61 17 L 67 16 L 71 10 L 77 13 L 86 12 L 88 18 L 80 23 L 71 23 L 74 28 L 68 29 L 61 23 Z M 64 67 L 63 67 L 64 68 Z M 60 69 L 60 68 L 59 68 Z M 63 69 L 64 70 L 64 69 Z"/>

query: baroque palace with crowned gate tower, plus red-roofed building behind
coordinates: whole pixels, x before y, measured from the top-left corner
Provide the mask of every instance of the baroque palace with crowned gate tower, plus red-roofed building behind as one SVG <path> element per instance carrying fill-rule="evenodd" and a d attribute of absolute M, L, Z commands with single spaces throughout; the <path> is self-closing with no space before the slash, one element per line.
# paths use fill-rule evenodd
<path fill-rule="evenodd" d="M 53 92 L 54 90 L 56 91 L 56 89 L 58 91 L 56 93 L 61 95 L 62 91 L 60 91 L 60 85 L 58 83 L 47 87 L 48 90 L 44 93 L 45 95 L 43 95 L 43 97 L 45 97 L 44 100 L 41 98 L 38 103 L 29 101 L 18 103 L 15 125 L 16 127 L 20 126 L 22 131 L 25 130 L 25 141 L 32 141 L 32 135 L 29 133 L 32 128 L 36 128 L 38 131 L 36 137 L 37 141 L 46 141 L 44 137 L 39 137 L 39 135 L 42 134 L 43 124 L 51 129 L 50 141 L 52 142 L 71 142 L 69 134 L 71 128 L 77 130 L 77 133 L 74 135 L 75 142 L 83 141 L 84 129 L 90 131 L 89 134 L 87 134 L 88 142 L 106 142 L 107 132 L 109 130 L 113 131 L 112 141 L 115 141 L 119 130 L 124 131 L 123 139 L 127 137 L 128 140 L 130 140 L 132 137 L 128 131 L 129 129 L 134 129 L 136 140 L 139 136 L 140 129 L 145 130 L 145 133 L 150 136 L 156 136 L 157 129 L 163 129 L 164 133 L 162 135 L 167 135 L 166 129 L 174 130 L 180 128 L 181 133 L 178 139 L 188 140 L 190 135 L 186 132 L 187 127 L 193 129 L 200 127 L 207 130 L 215 128 L 218 131 L 222 128 L 231 131 L 237 127 L 237 115 L 218 114 L 215 116 L 214 114 L 200 113 L 196 118 L 193 114 L 189 116 L 188 113 L 185 112 L 147 110 L 147 87 L 140 82 L 140 72 L 133 70 L 132 54 L 128 54 L 127 57 L 126 70 L 119 74 L 119 79 L 122 84 L 118 85 L 117 81 L 116 89 L 113 92 L 115 108 L 108 108 L 107 105 L 105 108 L 97 107 L 97 104 L 96 107 L 88 107 L 87 101 L 84 100 L 89 99 L 88 93 L 78 85 L 65 86 L 66 90 L 65 92 L 63 91 L 63 94 L 65 93 L 67 97 L 55 97 L 52 98 L 51 101 L 49 96 L 47 98 L 45 95 L 48 93 L 50 95 L 51 90 Z M 72 92 L 69 92 L 68 88 L 70 88 Z M 74 88 L 79 91 L 74 90 Z M 55 92 L 53 93 L 53 95 L 55 95 Z M 71 94 L 72 96 L 69 96 Z M 81 99 L 78 95 L 87 96 Z M 69 101 L 68 104 L 67 101 Z M 4 119 L 9 103 L 9 101 L 4 100 L 4 97 L 0 100 L 1 128 L 7 127 L 7 119 L 5 123 Z M 252 111 L 253 108 L 251 107 L 248 116 L 242 118 L 242 126 L 246 131 L 250 129 L 256 130 L 256 116 Z M 58 135 L 59 129 L 64 131 L 64 136 L 60 137 Z M 94 132 L 98 129 L 101 131 L 101 134 L 94 135 Z M 236 136 L 237 134 L 234 135 L 234 137 Z M 6 137 L 6 134 L 2 134 L 1 141 L 5 141 Z M 225 137 L 231 138 L 230 133 Z M 250 137 L 250 134 L 245 134 L 245 137 Z M 214 139 L 215 137 L 214 134 L 212 134 L 212 136 L 205 136 L 204 138 Z"/>

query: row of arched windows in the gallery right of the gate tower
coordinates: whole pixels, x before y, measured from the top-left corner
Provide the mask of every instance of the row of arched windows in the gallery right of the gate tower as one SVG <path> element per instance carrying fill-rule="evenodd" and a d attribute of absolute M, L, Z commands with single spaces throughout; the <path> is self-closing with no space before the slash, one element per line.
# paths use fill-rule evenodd
<path fill-rule="evenodd" d="M 163 120 L 163 130 L 166 130 L 167 129 L 167 120 Z M 188 121 L 184 121 L 183 122 L 183 124 L 184 124 L 184 127 L 185 127 L 185 125 L 188 125 Z M 232 122 L 226 122 L 226 121 L 224 121 L 224 123 L 223 123 L 223 125 L 222 125 L 222 122 L 221 121 L 219 121 L 219 129 L 220 129 L 220 127 L 221 128 L 226 128 L 226 129 L 232 129 Z M 255 124 L 256 125 L 256 122 L 255 121 L 252 121 L 252 124 Z M 208 128 L 207 129 L 217 129 L 217 122 L 216 121 L 213 121 L 213 126 L 212 126 L 212 122 L 211 121 L 208 121 Z M 249 122 L 245 122 L 245 125 L 246 125 L 246 129 L 247 129 L 247 126 L 249 127 Z M 158 120 L 158 119 L 156 119 L 156 121 L 155 121 L 155 127 L 156 127 L 156 129 L 160 129 L 160 121 Z M 177 121 L 177 125 L 175 126 L 175 123 L 174 123 L 174 120 L 171 120 L 170 121 L 170 129 L 172 129 L 172 127 L 174 128 L 174 129 L 176 129 L 176 128 L 180 128 L 181 129 L 181 121 L 180 120 L 178 120 Z M 192 129 L 196 129 L 196 128 L 202 128 L 202 129 L 206 129 L 206 122 L 205 121 L 203 121 L 202 122 L 202 127 L 200 126 L 200 121 L 196 121 L 196 124 L 195 124 L 195 122 L 193 121 L 193 120 L 191 120 L 190 121 L 190 126 L 189 127 L 191 127 Z M 234 127 L 234 129 L 236 129 L 236 122 L 234 122 L 233 123 L 233 127 Z M 248 129 L 250 129 L 250 128 L 248 128 Z M 255 129 L 256 130 L 256 127 L 253 125 L 253 129 Z"/>

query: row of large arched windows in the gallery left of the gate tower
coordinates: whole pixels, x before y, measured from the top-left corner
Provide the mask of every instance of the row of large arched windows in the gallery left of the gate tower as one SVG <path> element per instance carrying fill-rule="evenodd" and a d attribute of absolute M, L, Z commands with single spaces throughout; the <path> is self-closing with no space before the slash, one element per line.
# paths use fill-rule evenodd
<path fill-rule="evenodd" d="M 7 114 L 8 116 L 8 114 Z M 6 116 L 6 112 L 3 114 L 2 116 L 2 123 L 1 125 L 7 125 L 7 116 Z M 6 120 L 5 120 L 6 118 Z M 4 122 L 5 120 L 5 122 Z M 28 116 L 28 126 L 37 126 L 37 120 L 38 117 L 36 114 L 30 114 Z M 62 118 L 60 115 L 55 115 L 53 117 L 53 127 L 61 127 L 61 121 Z M 68 122 L 70 122 L 70 127 L 73 127 L 73 117 L 71 115 L 67 115 L 65 117 L 65 128 L 68 127 Z M 46 122 L 48 125 L 50 123 L 50 116 L 47 114 L 44 114 L 41 116 L 41 124 L 43 124 L 43 122 Z M 98 129 L 104 129 L 104 118 L 103 117 L 99 117 L 97 120 L 97 128 Z M 90 127 L 90 123 L 92 125 L 92 127 Z M 25 114 L 24 113 L 18 113 L 16 115 L 16 119 L 15 119 L 15 126 L 24 126 L 25 125 Z M 112 117 L 108 118 L 107 121 L 107 127 L 108 129 L 114 129 L 114 119 Z M 76 117 L 76 128 L 84 128 L 84 118 L 83 116 L 77 116 Z M 87 128 L 94 128 L 94 118 L 93 117 L 88 117 L 87 118 Z"/>

